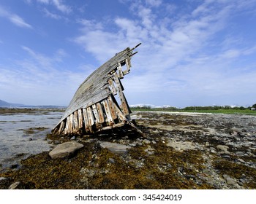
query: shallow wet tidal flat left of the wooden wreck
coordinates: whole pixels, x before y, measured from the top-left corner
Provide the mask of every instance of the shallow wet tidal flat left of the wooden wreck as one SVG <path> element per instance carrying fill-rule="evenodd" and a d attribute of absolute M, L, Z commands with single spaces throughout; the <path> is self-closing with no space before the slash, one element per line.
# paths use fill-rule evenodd
<path fill-rule="evenodd" d="M 51 109 L 0 109 L 0 168 L 15 168 L 29 155 L 49 151 L 46 136 L 61 114 Z"/>

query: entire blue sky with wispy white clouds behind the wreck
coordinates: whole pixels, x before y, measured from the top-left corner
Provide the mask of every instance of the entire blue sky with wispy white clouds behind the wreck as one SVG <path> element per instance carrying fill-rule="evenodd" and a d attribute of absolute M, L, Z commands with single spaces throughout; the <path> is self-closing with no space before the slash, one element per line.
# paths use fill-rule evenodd
<path fill-rule="evenodd" d="M 138 47 L 128 103 L 256 103 L 256 0 L 0 0 L 0 99 L 67 106 L 94 69 Z"/>

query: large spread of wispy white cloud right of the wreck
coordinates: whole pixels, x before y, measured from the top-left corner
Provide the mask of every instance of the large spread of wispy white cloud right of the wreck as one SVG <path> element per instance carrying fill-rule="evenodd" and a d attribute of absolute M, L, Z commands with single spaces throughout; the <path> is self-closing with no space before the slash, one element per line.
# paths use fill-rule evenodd
<path fill-rule="evenodd" d="M 130 4 L 135 19 L 118 16 L 100 25 L 94 20 L 80 21 L 82 34 L 74 41 L 100 63 L 125 47 L 143 43 L 133 60 L 138 69 L 135 68 L 135 74 L 124 82 L 129 87 L 129 98 L 135 98 L 136 93 L 151 98 L 154 93 L 156 97 L 166 95 L 166 101 L 161 103 L 170 104 L 170 95 L 175 93 L 177 103 L 182 104 L 185 95 L 197 95 L 196 90 L 202 89 L 198 97 L 211 101 L 212 95 L 225 95 L 228 91 L 234 94 L 236 89 L 248 93 L 246 88 L 256 85 L 253 80 L 256 72 L 252 68 L 248 68 L 250 74 L 242 71 L 237 76 L 232 74 L 243 68 L 237 63 L 241 56 L 255 54 L 256 44 L 227 43 L 225 38 L 213 41 L 227 28 L 230 17 L 248 12 L 252 4 L 255 1 L 203 1 L 189 12 L 181 9 L 176 15 L 168 15 L 168 8 L 178 8 L 162 1 L 146 1 L 145 4 L 135 1 Z M 159 6 L 161 9 L 156 9 Z M 167 15 L 161 18 L 159 12 Z M 227 38 L 228 35 L 227 32 Z M 248 79 L 246 85 L 238 83 L 244 81 L 243 77 Z"/>

